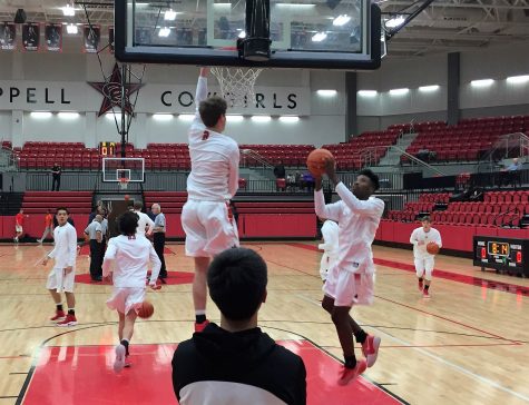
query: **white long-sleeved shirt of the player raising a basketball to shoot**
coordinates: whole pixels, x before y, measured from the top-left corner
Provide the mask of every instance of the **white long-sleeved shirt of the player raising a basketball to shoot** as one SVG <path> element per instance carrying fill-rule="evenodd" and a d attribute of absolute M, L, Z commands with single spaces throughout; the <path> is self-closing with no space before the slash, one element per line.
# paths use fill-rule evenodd
<path fill-rule="evenodd" d="M 376 197 L 357 199 L 343 182 L 336 185 L 341 201 L 325 205 L 323 190 L 314 191 L 316 215 L 339 224 L 339 256 L 335 266 L 347 271 L 374 271 L 374 240 L 380 218 L 384 213 L 384 201 Z"/>

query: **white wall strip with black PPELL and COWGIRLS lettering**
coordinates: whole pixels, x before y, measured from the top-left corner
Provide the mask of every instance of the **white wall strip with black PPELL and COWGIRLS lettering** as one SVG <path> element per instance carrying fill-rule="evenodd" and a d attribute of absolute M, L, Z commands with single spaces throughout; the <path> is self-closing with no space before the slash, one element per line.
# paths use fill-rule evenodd
<path fill-rule="evenodd" d="M 109 93 L 114 82 L 101 82 Z M 129 90 L 130 91 L 130 88 Z M 209 93 L 218 93 L 212 86 Z M 256 87 L 255 100 L 248 107 L 231 108 L 229 113 L 311 115 L 310 89 L 306 87 Z M 130 95 L 130 101 L 136 92 Z M 23 111 L 98 111 L 105 97 L 84 81 L 0 80 L 0 110 Z M 195 86 L 145 85 L 135 112 L 194 113 Z"/>

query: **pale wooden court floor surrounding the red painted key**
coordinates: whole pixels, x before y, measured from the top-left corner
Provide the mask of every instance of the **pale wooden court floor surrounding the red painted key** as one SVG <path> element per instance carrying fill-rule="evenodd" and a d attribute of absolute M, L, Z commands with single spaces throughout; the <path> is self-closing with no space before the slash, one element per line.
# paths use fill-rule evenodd
<path fill-rule="evenodd" d="M 264 330 L 287 344 L 304 339 L 302 345 L 308 342 L 320 353 L 341 358 L 334 327 L 320 308 L 321 254 L 314 244 L 246 246 L 256 249 L 268 264 L 268 299 L 259 313 Z M 33 265 L 49 249 L 46 245 L 0 246 L 0 405 L 33 403 L 28 393 L 39 397 L 51 383 L 62 387 L 63 395 L 56 397 L 56 403 L 76 403 L 75 387 L 65 381 L 45 381 L 43 385 L 32 382 L 39 375 L 33 373 L 35 366 L 42 364 L 46 354 L 51 358 L 53 350 L 100 346 L 106 350 L 106 363 L 100 367 L 111 367 L 112 358 L 107 354 L 111 354 L 117 339 L 116 314 L 105 305 L 111 286 L 88 281 L 82 275 L 88 273 L 88 256 L 81 254 L 76 286 L 79 325 L 55 327 L 48 322 L 55 308 L 45 288 L 50 265 Z M 528 279 L 482 273 L 469 259 L 441 255 L 435 260 L 432 297 L 423 299 L 417 289 L 410 250 L 375 247 L 374 253 L 376 298 L 370 307 L 354 308 L 353 316 L 366 330 L 381 336 L 382 346 L 379 360 L 365 373 L 365 381 L 355 383 L 359 387 L 364 383 L 376 386 L 410 404 L 529 404 Z M 160 353 L 164 348 L 164 356 L 170 362 L 175 344 L 192 335 L 193 261 L 184 256 L 183 246 L 175 244 L 167 245 L 166 263 L 169 271 L 177 273 L 170 274 L 170 285 L 149 293 L 155 315 L 137 323 L 133 345 L 145 345 L 146 352 L 148 347 L 158 347 Z M 208 317 L 217 320 L 218 312 L 213 303 L 208 305 Z M 90 348 L 86 350 L 89 356 Z M 356 353 L 360 355 L 360 350 Z M 159 357 L 147 367 L 156 368 Z M 76 373 L 75 364 L 68 367 Z M 98 363 L 90 367 L 92 373 L 85 373 L 97 376 Z M 312 392 L 319 389 L 319 384 L 335 379 L 335 367 L 324 367 L 322 363 L 319 378 L 323 383 L 308 381 Z M 149 368 L 145 369 L 147 373 Z M 148 378 L 146 384 L 156 383 Z M 158 384 L 165 385 L 163 389 L 170 395 L 170 378 L 164 377 Z M 330 386 L 325 389 L 333 391 Z M 315 398 L 312 396 L 310 403 L 322 403 Z M 144 399 L 140 403 L 154 403 Z M 329 396 L 326 403 L 332 403 Z M 355 401 L 352 394 L 350 403 L 365 402 Z M 371 396 L 369 403 L 390 402 Z"/>

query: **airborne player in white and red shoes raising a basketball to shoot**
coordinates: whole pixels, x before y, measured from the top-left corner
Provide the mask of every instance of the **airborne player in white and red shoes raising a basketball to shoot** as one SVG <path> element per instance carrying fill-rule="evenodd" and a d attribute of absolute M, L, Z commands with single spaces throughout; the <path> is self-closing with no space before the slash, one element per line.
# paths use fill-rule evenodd
<path fill-rule="evenodd" d="M 316 215 L 339 224 L 339 255 L 323 287 L 322 307 L 331 314 L 344 355 L 344 368 L 339 384 L 349 384 L 373 366 L 380 346 L 380 337 L 368 335 L 351 317 L 353 305 L 373 302 L 374 263 L 373 243 L 384 201 L 372 196 L 379 189 L 379 177 L 371 170 L 359 172 L 352 192 L 340 181 L 334 159 L 327 159 L 325 171 L 334 184 L 341 201 L 325 205 L 322 177 L 316 178 L 314 202 Z M 362 345 L 365 359 L 356 362 L 353 335 Z"/>

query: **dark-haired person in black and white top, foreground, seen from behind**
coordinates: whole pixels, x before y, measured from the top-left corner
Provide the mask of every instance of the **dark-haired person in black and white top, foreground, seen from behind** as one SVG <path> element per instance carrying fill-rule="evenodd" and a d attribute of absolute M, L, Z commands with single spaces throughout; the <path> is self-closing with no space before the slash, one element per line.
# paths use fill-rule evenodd
<path fill-rule="evenodd" d="M 266 300 L 263 258 L 251 249 L 227 249 L 212 261 L 207 284 L 221 327 L 208 324 L 178 345 L 173 387 L 179 404 L 305 404 L 302 358 L 257 327 Z"/>

